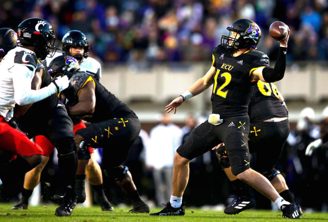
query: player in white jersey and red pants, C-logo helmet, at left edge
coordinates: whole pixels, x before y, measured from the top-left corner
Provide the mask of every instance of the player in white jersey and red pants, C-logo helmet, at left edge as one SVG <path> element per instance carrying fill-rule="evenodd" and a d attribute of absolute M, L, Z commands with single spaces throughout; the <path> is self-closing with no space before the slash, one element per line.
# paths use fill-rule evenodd
<path fill-rule="evenodd" d="M 16 36 L 12 30 L 7 30 L 4 34 L 5 41 Z M 18 26 L 18 47 L 7 52 L 0 63 L 0 150 L 22 157 L 22 159 L 17 158 L 16 161 L 20 164 L 15 166 L 23 166 L 21 169 L 24 172 L 40 164 L 43 151 L 24 133 L 10 127 L 7 122 L 13 116 L 15 104 L 29 105 L 68 87 L 68 79 L 58 78 L 41 90 L 31 89 L 37 59 L 51 56 L 51 52 L 55 49 L 54 41 L 52 26 L 46 20 L 26 19 Z M 8 44 L 4 42 L 3 46 L 6 45 Z M 1 52 L 5 54 L 6 50 L 9 48 L 4 48 Z"/>

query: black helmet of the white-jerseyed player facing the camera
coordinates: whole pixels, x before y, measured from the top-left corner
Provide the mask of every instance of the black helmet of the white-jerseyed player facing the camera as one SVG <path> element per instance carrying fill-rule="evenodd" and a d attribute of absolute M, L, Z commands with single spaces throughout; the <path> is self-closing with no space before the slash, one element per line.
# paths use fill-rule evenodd
<path fill-rule="evenodd" d="M 86 36 L 79 30 L 71 30 L 68 33 L 66 33 L 62 39 L 62 46 L 63 46 L 63 51 L 66 55 L 77 58 L 79 62 L 82 61 L 83 57 L 87 58 L 87 56 L 89 56 L 89 49 L 90 49 L 89 42 L 87 41 Z M 74 46 L 84 47 L 84 53 L 83 54 L 70 53 L 70 48 Z"/>

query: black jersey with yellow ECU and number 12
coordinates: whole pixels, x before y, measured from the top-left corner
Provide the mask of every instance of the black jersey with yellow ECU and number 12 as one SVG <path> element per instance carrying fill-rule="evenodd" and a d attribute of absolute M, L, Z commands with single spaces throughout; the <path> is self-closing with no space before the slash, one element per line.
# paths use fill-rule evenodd
<path fill-rule="evenodd" d="M 212 90 L 212 112 L 222 117 L 245 115 L 250 102 L 252 82 L 250 73 L 269 66 L 269 58 L 257 50 L 246 51 L 234 57 L 221 45 L 213 50 L 212 66 L 215 75 Z"/>

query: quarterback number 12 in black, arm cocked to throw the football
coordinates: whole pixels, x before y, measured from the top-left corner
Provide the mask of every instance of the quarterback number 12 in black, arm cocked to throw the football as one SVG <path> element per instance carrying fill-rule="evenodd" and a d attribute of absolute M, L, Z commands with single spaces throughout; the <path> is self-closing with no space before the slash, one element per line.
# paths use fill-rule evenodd
<path fill-rule="evenodd" d="M 221 45 L 213 50 L 212 66 L 188 91 L 175 98 L 165 111 L 177 111 L 183 101 L 196 96 L 213 84 L 212 114 L 195 128 L 187 141 L 174 155 L 172 194 L 166 207 L 153 216 L 184 215 L 182 195 L 188 182 L 189 162 L 225 143 L 232 173 L 238 179 L 257 189 L 275 202 L 283 211 L 283 217 L 299 218 L 296 205 L 285 201 L 271 183 L 249 167 L 247 137 L 249 117 L 247 106 L 256 81 L 274 82 L 283 78 L 286 68 L 287 37 L 280 41 L 280 49 L 274 68 L 270 68 L 268 56 L 256 50 L 261 37 L 258 25 L 249 19 L 238 19 L 228 28 L 229 36 L 222 36 Z"/>

